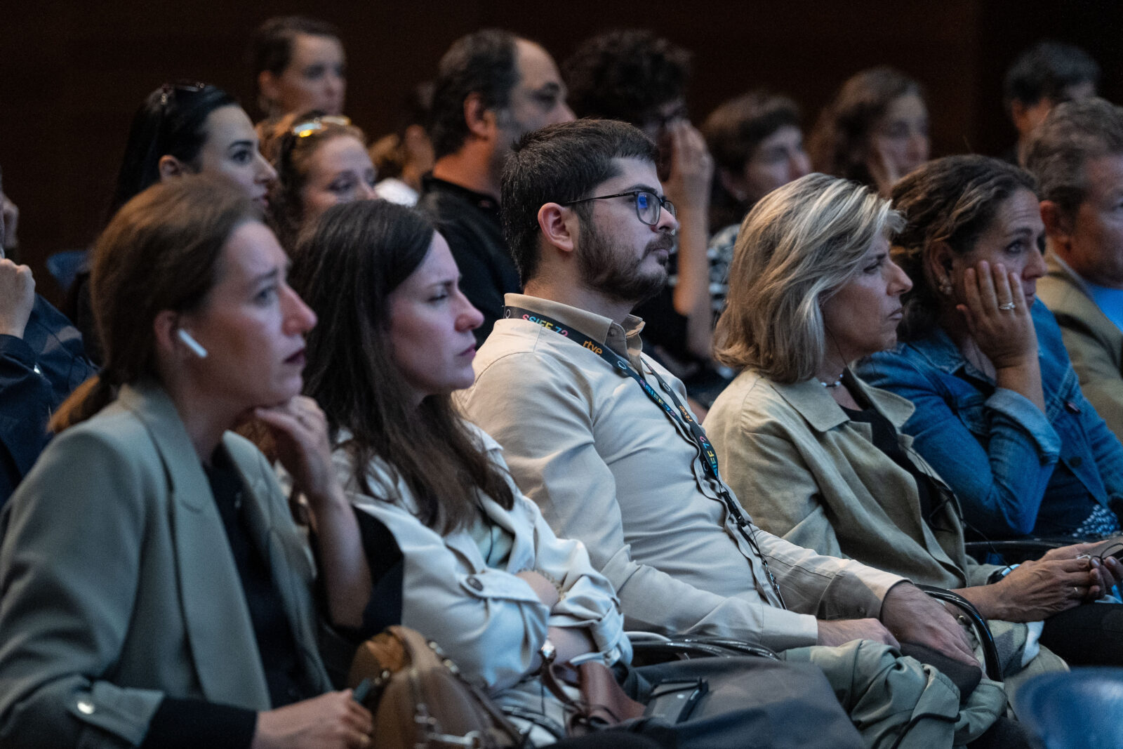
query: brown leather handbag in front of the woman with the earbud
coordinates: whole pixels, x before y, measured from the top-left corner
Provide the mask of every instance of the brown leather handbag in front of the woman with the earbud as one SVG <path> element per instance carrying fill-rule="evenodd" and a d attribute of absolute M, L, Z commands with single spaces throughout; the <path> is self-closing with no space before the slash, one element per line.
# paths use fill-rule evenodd
<path fill-rule="evenodd" d="M 528 746 L 436 642 L 409 628 L 389 627 L 360 645 L 347 683 L 374 715 L 378 749 Z"/>

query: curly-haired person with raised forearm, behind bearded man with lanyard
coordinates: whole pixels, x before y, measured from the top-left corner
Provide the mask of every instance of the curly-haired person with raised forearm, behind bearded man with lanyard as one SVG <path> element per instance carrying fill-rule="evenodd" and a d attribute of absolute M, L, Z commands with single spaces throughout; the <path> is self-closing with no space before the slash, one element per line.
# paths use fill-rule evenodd
<path fill-rule="evenodd" d="M 691 53 L 649 30 L 609 31 L 584 42 L 562 66 L 577 117 L 631 122 L 659 147 L 659 179 L 677 210 L 668 284 L 640 307 L 643 339 L 687 390 L 712 389 L 713 313 L 707 212 L 713 161 L 686 110 Z M 714 394 L 724 385 L 719 381 Z M 712 396 L 703 400 L 709 403 Z"/>

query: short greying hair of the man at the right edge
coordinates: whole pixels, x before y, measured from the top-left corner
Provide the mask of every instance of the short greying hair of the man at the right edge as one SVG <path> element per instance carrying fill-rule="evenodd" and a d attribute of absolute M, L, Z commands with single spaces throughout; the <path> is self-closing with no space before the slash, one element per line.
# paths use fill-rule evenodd
<path fill-rule="evenodd" d="M 1123 154 L 1123 108 L 1103 99 L 1066 101 L 1033 130 L 1025 168 L 1038 179 L 1042 200 L 1068 216 L 1084 202 L 1089 158 Z"/>

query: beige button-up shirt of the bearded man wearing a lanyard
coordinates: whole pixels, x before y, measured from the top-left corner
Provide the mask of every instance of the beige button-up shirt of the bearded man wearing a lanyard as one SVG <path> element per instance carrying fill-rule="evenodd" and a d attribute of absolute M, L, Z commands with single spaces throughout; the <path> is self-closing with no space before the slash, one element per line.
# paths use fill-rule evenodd
<path fill-rule="evenodd" d="M 642 321 L 623 326 L 557 302 L 508 294 L 506 304 L 553 318 L 624 356 L 658 391 Z M 779 582 L 737 529 L 687 427 L 593 350 L 538 322 L 500 320 L 459 394 L 494 437 L 522 491 L 559 537 L 584 541 L 617 587 L 631 629 L 736 637 L 776 650 L 814 645 L 815 616 L 877 616 L 902 578 L 821 556 L 750 527 Z"/>

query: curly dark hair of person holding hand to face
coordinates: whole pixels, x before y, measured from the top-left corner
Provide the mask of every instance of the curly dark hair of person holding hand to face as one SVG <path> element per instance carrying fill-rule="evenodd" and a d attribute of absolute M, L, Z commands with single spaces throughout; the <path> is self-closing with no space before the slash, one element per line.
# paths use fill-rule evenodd
<path fill-rule="evenodd" d="M 586 39 L 562 65 L 577 117 L 642 126 L 660 104 L 686 95 L 691 53 L 648 29 Z"/>

